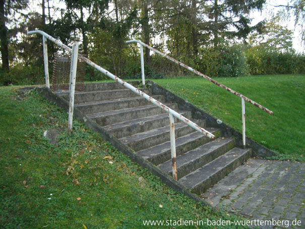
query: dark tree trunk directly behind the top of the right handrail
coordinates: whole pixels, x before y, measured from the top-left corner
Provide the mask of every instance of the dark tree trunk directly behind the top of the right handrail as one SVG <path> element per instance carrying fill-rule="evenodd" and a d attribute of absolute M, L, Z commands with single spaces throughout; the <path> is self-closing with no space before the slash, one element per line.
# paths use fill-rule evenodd
<path fill-rule="evenodd" d="M 147 0 L 142 0 L 142 32 L 144 43 L 150 43 L 150 31 L 149 31 L 149 17 L 148 17 L 148 5 Z M 150 65 L 150 49 L 145 47 L 145 60 L 146 64 Z"/>

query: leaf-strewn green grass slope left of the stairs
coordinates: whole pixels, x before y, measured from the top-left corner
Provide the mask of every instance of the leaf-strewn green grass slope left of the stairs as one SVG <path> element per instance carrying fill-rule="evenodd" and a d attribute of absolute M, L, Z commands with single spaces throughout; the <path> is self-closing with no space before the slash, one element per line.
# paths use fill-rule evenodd
<path fill-rule="evenodd" d="M 236 219 L 175 193 L 76 120 L 68 136 L 67 112 L 35 91 L 22 96 L 14 89 L 0 88 L 1 228 L 150 228 L 142 220 Z M 61 130 L 58 147 L 43 137 L 52 128 Z"/>

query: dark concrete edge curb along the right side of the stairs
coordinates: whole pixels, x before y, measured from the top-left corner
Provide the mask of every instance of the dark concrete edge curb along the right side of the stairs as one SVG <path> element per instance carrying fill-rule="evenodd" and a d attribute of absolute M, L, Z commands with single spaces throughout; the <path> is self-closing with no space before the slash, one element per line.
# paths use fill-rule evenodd
<path fill-rule="evenodd" d="M 172 92 L 168 91 L 167 89 L 161 87 L 154 81 L 147 81 L 147 83 L 150 83 L 153 88 L 153 94 L 162 94 L 165 97 L 166 102 L 176 102 L 178 103 L 178 107 L 181 110 L 189 110 L 192 112 L 193 119 L 204 119 L 206 120 L 206 126 L 207 127 L 215 127 L 221 129 L 221 133 L 224 136 L 234 136 L 236 138 L 236 146 L 242 147 L 242 134 L 235 130 L 234 128 L 222 123 L 218 124 L 217 119 L 215 119 L 213 116 L 210 116 L 208 113 L 203 111 L 202 109 L 198 108 L 197 106 L 193 105 L 192 103 L 178 97 L 177 95 L 173 94 Z M 241 121 L 240 121 L 241 123 Z M 246 145 L 249 148 L 252 148 L 253 155 L 259 156 L 259 157 L 268 157 L 276 155 L 275 152 L 272 150 L 266 148 L 265 146 L 259 144 L 258 142 L 254 141 L 251 138 L 248 138 L 246 136 Z"/>

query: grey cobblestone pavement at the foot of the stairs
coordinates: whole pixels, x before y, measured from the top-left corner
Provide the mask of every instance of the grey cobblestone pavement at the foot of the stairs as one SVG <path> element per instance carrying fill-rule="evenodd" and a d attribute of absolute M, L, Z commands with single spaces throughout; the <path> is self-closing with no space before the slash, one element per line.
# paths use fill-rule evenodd
<path fill-rule="evenodd" d="M 247 218 L 301 221 L 276 228 L 305 228 L 305 163 L 251 158 L 202 196 Z"/>

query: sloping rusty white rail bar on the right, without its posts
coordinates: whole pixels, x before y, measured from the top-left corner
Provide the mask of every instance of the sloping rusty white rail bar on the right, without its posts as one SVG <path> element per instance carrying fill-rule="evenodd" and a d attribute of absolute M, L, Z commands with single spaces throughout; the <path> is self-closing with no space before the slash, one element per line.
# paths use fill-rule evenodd
<path fill-rule="evenodd" d="M 242 95 L 242 94 L 240 94 L 240 93 L 234 91 L 233 89 L 231 89 L 231 88 L 229 88 L 229 87 L 227 87 L 227 86 L 225 86 L 225 85 L 223 85 L 223 84 L 217 82 L 216 80 L 213 80 L 212 78 L 210 78 L 210 77 L 208 77 L 208 76 L 202 74 L 201 72 L 198 72 L 197 70 L 191 68 L 190 66 L 187 66 L 187 65 L 185 65 L 185 64 L 183 64 L 183 63 L 181 63 L 181 62 L 175 60 L 175 59 L 172 58 L 171 56 L 166 55 L 166 54 L 163 53 L 163 52 L 160 52 L 159 50 L 157 50 L 157 49 L 155 49 L 155 48 L 149 46 L 148 44 L 143 43 L 143 42 L 140 41 L 140 40 L 129 40 L 129 41 L 126 41 L 126 43 L 139 43 L 141 46 L 145 46 L 145 47 L 149 48 L 150 50 L 152 50 L 152 51 L 154 51 L 154 52 L 156 52 L 156 53 L 162 55 L 164 58 L 166 58 L 166 59 L 168 59 L 168 60 L 174 62 L 175 64 L 177 64 L 177 65 L 179 65 L 179 66 L 181 66 L 181 67 L 184 67 L 184 68 L 186 68 L 187 70 L 189 70 L 189 71 L 195 73 L 196 75 L 199 75 L 199 76 L 201 76 L 201 77 L 207 79 L 208 81 L 212 82 L 213 84 L 216 84 L 217 86 L 222 87 L 223 89 L 225 89 L 225 90 L 231 92 L 232 94 L 234 94 L 234 95 L 236 95 L 236 96 L 238 96 L 238 97 L 240 97 L 240 98 L 242 98 L 242 99 L 245 99 L 247 102 L 250 102 L 251 104 L 253 104 L 253 105 L 259 107 L 259 108 L 262 109 L 262 110 L 264 110 L 265 112 L 270 113 L 270 115 L 273 114 L 273 111 L 272 111 L 272 110 L 269 110 L 269 109 L 266 108 L 265 106 L 262 106 L 261 104 L 259 104 L 259 103 L 255 102 L 255 101 L 253 101 L 252 99 L 246 97 L 245 95 Z M 143 76 L 142 76 L 142 77 L 143 77 Z"/>

